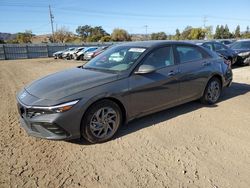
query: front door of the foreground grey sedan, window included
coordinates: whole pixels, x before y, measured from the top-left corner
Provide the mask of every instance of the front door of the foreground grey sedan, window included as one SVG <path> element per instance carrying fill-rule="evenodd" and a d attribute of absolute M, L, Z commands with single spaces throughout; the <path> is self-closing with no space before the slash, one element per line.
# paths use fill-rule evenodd
<path fill-rule="evenodd" d="M 141 64 L 154 66 L 156 70 L 130 76 L 130 112 L 133 115 L 144 114 L 178 102 L 179 83 L 176 76 L 179 70 L 172 46 L 155 49 Z"/>

